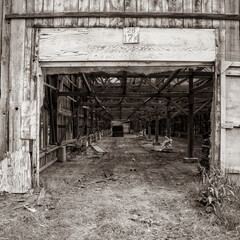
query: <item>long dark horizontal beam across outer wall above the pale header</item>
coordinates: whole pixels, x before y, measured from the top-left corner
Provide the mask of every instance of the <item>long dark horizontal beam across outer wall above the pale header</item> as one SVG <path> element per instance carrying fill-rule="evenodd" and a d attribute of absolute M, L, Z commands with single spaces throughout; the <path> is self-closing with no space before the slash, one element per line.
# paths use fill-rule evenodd
<path fill-rule="evenodd" d="M 59 13 L 10 13 L 6 19 L 101 17 L 101 18 L 195 18 L 239 21 L 239 14 L 173 13 L 173 12 L 59 12 Z"/>

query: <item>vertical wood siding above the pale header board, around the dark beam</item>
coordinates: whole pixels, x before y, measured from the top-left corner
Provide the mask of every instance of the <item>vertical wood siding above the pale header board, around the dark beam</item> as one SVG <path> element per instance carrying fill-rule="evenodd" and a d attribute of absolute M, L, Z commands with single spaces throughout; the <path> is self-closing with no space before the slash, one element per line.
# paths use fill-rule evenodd
<path fill-rule="evenodd" d="M 239 0 L 22 0 L 13 1 L 12 12 L 176 12 L 176 13 L 239 13 Z M 239 22 L 204 19 L 171 18 L 56 18 L 37 19 L 43 27 L 174 27 L 216 28 L 221 59 L 239 61 Z"/>

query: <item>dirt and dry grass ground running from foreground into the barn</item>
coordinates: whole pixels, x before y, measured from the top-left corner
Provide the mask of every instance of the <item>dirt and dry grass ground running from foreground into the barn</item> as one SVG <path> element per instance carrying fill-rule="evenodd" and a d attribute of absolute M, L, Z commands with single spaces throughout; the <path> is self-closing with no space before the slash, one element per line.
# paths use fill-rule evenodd
<path fill-rule="evenodd" d="M 189 199 L 199 176 L 186 141 L 173 153 L 134 135 L 95 144 L 107 153 L 71 152 L 41 174 L 42 206 L 39 191 L 0 195 L 0 239 L 240 239 Z"/>

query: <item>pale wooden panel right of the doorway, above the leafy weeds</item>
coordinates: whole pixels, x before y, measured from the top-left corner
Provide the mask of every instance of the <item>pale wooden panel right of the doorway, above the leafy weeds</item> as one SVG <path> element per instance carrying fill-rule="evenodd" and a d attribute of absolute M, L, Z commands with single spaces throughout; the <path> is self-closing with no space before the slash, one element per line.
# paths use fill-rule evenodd
<path fill-rule="evenodd" d="M 221 169 L 240 171 L 239 154 L 239 76 L 227 76 L 231 71 L 230 62 L 221 65 Z M 237 70 L 237 68 L 236 68 Z M 230 125 L 227 126 L 227 125 Z M 236 128 L 234 128 L 236 126 Z"/>

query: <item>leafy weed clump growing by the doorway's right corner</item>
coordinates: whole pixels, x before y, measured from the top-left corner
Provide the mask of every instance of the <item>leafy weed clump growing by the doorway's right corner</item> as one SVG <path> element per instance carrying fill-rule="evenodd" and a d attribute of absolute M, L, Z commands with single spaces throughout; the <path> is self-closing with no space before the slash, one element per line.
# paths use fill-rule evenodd
<path fill-rule="evenodd" d="M 201 180 L 189 190 L 190 197 L 207 213 L 214 213 L 218 224 L 240 230 L 240 187 L 217 169 L 203 172 Z"/>

